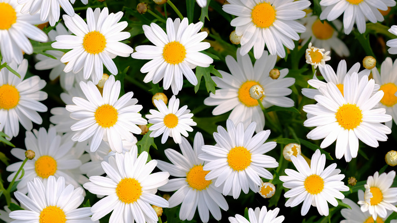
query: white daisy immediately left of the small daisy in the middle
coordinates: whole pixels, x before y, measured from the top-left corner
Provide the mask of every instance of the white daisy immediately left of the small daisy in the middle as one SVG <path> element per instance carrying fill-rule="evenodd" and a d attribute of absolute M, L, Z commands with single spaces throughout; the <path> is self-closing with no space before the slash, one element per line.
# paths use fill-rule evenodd
<path fill-rule="evenodd" d="M 80 82 L 80 88 L 88 100 L 73 97 L 75 105 L 66 105 L 70 118 L 78 120 L 70 128 L 77 131 L 73 141 L 83 142 L 93 136 L 90 149 L 95 152 L 101 141 L 109 142 L 114 152 L 123 151 L 122 140 L 133 141 L 132 133 L 140 134 L 136 125 L 146 125 L 147 121 L 138 113 L 142 105 L 132 98 L 133 92 L 128 92 L 119 98 L 120 81 L 110 75 L 103 87 L 103 94 L 92 81 Z M 131 133 L 132 132 L 132 133 Z"/>

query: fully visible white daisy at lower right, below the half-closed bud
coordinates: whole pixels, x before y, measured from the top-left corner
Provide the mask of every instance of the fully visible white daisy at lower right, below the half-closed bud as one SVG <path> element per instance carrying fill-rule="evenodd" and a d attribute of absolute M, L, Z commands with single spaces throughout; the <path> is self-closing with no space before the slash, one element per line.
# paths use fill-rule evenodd
<path fill-rule="evenodd" d="M 341 170 L 336 169 L 336 163 L 325 167 L 325 155 L 320 150 L 311 156 L 310 166 L 303 156 L 291 156 L 292 163 L 298 170 L 286 169 L 287 176 L 280 176 L 284 182 L 283 187 L 290 188 L 284 197 L 290 198 L 286 207 L 295 207 L 303 202 L 301 214 L 306 215 L 310 205 L 317 207 L 321 215 L 328 216 L 328 203 L 338 206 L 336 199 L 344 199 L 340 191 L 348 191 L 349 187 L 342 182 L 345 175 L 339 174 Z M 335 199 L 336 198 L 336 199 Z"/>

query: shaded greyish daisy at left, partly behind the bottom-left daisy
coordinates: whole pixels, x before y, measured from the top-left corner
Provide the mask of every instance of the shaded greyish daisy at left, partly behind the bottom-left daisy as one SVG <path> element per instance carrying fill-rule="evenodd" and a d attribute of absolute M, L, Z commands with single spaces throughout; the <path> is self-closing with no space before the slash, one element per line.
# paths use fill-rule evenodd
<path fill-rule="evenodd" d="M 63 176 L 67 184 L 79 187 L 79 183 L 74 179 L 69 171 L 79 168 L 81 161 L 70 153 L 73 147 L 72 141 L 61 142 L 61 135 L 57 135 L 55 128 L 50 127 L 48 132 L 41 127 L 39 131 L 33 129 L 33 132 L 27 131 L 25 137 L 26 150 L 33 150 L 36 153 L 35 158 L 27 160 L 23 166 L 24 175 L 17 185 L 17 190 L 26 193 L 26 184 L 35 177 L 46 181 L 49 176 Z M 11 150 L 16 158 L 25 159 L 24 149 L 14 148 Z M 7 180 L 12 181 L 16 172 L 19 170 L 22 161 L 7 166 L 7 171 L 14 172 L 8 176 Z M 17 176 L 19 180 L 21 172 Z"/>

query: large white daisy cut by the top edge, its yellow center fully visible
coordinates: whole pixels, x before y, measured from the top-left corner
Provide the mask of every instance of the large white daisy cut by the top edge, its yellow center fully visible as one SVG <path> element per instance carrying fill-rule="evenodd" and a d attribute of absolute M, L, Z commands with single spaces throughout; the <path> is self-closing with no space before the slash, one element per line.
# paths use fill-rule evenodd
<path fill-rule="evenodd" d="M 295 21 L 303 18 L 302 11 L 310 6 L 306 0 L 228 1 L 223 11 L 237 16 L 230 23 L 236 27 L 236 35 L 241 37 L 241 55 L 253 47 L 253 55 L 261 58 L 265 45 L 272 55 L 286 57 L 284 46 L 294 49 L 294 41 L 299 40 L 298 33 L 306 31 L 304 25 Z"/>

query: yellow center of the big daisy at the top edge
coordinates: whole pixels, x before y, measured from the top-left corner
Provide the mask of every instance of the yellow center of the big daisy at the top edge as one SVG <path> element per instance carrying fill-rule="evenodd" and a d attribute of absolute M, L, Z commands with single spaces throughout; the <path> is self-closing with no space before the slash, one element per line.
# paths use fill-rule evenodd
<path fill-rule="evenodd" d="M 253 24 L 259 28 L 267 28 L 276 20 L 276 10 L 270 3 L 259 3 L 251 12 Z"/>

